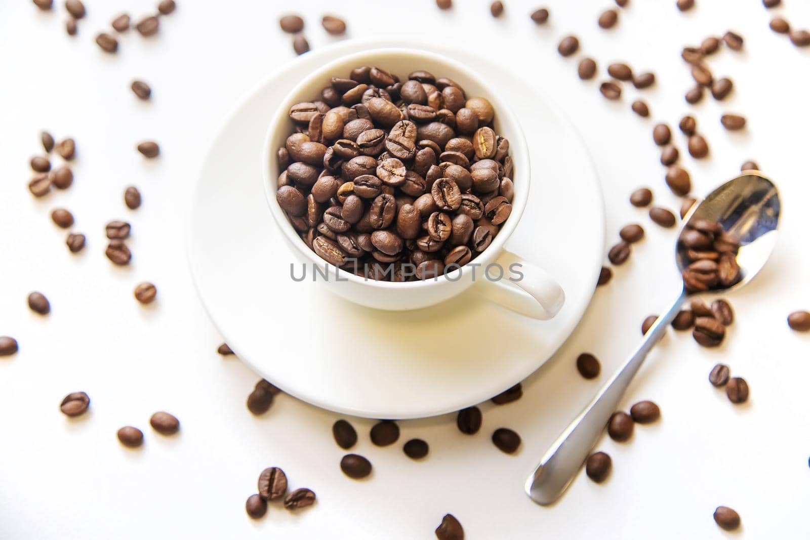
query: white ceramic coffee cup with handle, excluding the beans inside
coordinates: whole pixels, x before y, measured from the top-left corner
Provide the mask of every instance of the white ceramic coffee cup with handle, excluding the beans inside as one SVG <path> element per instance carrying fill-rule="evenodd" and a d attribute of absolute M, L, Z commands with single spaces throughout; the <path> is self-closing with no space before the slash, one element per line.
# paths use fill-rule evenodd
<path fill-rule="evenodd" d="M 357 66 L 380 66 L 384 70 L 398 74 L 405 79 L 416 70 L 427 70 L 437 77 L 453 79 L 464 88 L 467 97 L 484 97 L 495 109 L 494 127 L 497 134 L 509 139 L 509 154 L 514 163 L 514 199 L 512 213 L 492 239 L 492 244 L 470 263 L 436 279 L 393 283 L 364 279 L 361 276 L 340 270 L 335 275 L 335 267 L 330 267 L 328 281 L 321 279 L 339 296 L 369 308 L 406 310 L 425 308 L 438 304 L 467 290 L 475 282 L 483 282 L 475 291 L 517 313 L 547 320 L 556 315 L 565 303 L 565 293 L 544 270 L 534 263 L 523 260 L 504 248 L 506 240 L 518 227 L 523 210 L 526 209 L 531 172 L 529 151 L 517 118 L 501 99 L 491 82 L 459 62 L 440 54 L 416 49 L 373 49 L 351 54 L 327 63 L 313 71 L 290 91 L 279 104 L 275 116 L 267 130 L 262 154 L 262 182 L 267 203 L 275 223 L 283 233 L 299 261 L 306 265 L 316 265 L 323 270 L 326 265 L 318 254 L 305 244 L 287 215 L 276 202 L 277 176 L 279 164 L 277 151 L 284 146 L 294 126 L 288 113 L 292 105 L 312 101 L 320 96 L 323 87 L 330 85 L 331 77 L 347 77 Z M 508 84 L 507 81 L 496 81 Z M 531 104 L 527 104 L 531 106 Z M 538 232 L 542 234 L 544 232 Z M 291 261 L 292 262 L 292 261 Z M 285 261 L 286 263 L 286 261 Z M 513 265 L 519 266 L 513 266 Z M 475 266 L 474 266 L 475 265 Z M 496 265 L 496 266 L 491 266 Z M 489 269 L 489 270 L 487 270 Z M 510 269 L 517 269 L 518 273 Z M 503 278 L 497 279 L 503 272 Z M 320 277 L 320 276 L 319 276 Z M 511 279 L 510 279 L 511 278 Z"/>

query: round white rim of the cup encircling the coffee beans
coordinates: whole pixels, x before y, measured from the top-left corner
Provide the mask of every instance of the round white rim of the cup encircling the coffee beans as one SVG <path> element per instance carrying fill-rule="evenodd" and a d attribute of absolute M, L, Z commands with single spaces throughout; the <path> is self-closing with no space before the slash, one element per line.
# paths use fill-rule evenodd
<path fill-rule="evenodd" d="M 441 274 L 441 276 L 438 276 L 435 279 L 424 279 L 409 282 L 387 282 L 376 279 L 366 279 L 353 274 L 348 270 L 341 269 L 343 270 L 341 281 L 346 280 L 348 282 L 360 283 L 369 287 L 378 287 L 387 290 L 430 288 L 439 287 L 441 284 L 446 285 L 448 283 L 458 283 L 461 281 L 460 278 L 462 277 L 463 270 L 466 269 L 471 263 L 485 266 L 497 258 L 503 251 L 506 240 L 509 239 L 509 236 L 512 235 L 514 229 L 518 226 L 520 218 L 523 215 L 523 210 L 526 209 L 531 181 L 531 170 L 526 135 L 523 133 L 522 126 L 518 122 L 518 119 L 514 115 L 512 109 L 501 100 L 501 94 L 496 88 L 492 87 L 491 83 L 488 83 L 488 81 L 484 79 L 484 77 L 482 77 L 477 71 L 463 65 L 457 60 L 454 60 L 454 58 L 445 56 L 444 54 L 433 53 L 428 50 L 416 49 L 412 47 L 378 47 L 376 49 L 368 49 L 336 58 L 331 62 L 327 62 L 318 68 L 318 70 L 312 71 L 304 79 L 301 79 L 301 81 L 297 83 L 286 96 L 284 96 L 283 100 L 276 107 L 270 123 L 267 125 L 267 131 L 262 147 L 262 185 L 266 202 L 270 207 L 271 215 L 273 215 L 275 224 L 286 237 L 288 243 L 297 249 L 297 251 L 312 264 L 328 264 L 321 257 L 318 257 L 318 254 L 312 249 L 309 249 L 309 246 L 304 243 L 304 240 L 301 239 L 301 236 L 298 235 L 298 233 L 292 227 L 292 224 L 289 223 L 287 215 L 285 215 L 283 210 L 281 210 L 281 207 L 275 198 L 277 188 L 275 187 L 275 176 L 271 174 L 271 170 L 277 170 L 278 164 L 275 151 L 272 149 L 278 145 L 274 145 L 272 142 L 273 138 L 275 138 L 275 132 L 277 131 L 278 125 L 283 121 L 286 121 L 289 108 L 293 104 L 300 101 L 300 99 L 297 99 L 296 96 L 300 95 L 303 91 L 305 91 L 305 89 L 309 88 L 313 81 L 321 79 L 327 74 L 330 75 L 335 73 L 338 67 L 343 66 L 345 63 L 360 62 L 357 65 L 364 65 L 364 58 L 373 57 L 380 54 L 428 57 L 434 62 L 440 62 L 447 64 L 448 66 L 452 66 L 455 70 L 466 74 L 469 79 L 475 80 L 475 83 L 484 89 L 484 97 L 489 100 L 492 107 L 496 110 L 497 121 L 501 123 L 501 125 L 509 125 L 509 131 L 512 132 L 509 136 L 509 155 L 512 155 L 515 162 L 514 170 L 516 173 L 514 176 L 516 178 L 519 177 L 520 181 L 518 182 L 516 178 L 512 178 L 516 187 L 515 197 L 512 202 L 512 213 L 509 215 L 509 219 L 506 220 L 504 226 L 501 227 L 501 231 L 497 236 L 495 236 L 487 249 L 484 249 L 483 252 L 475 257 L 475 259 L 473 259 L 471 262 L 467 263 L 467 265 L 461 266 L 449 274 Z M 449 279 L 449 276 L 455 277 L 455 279 Z"/>

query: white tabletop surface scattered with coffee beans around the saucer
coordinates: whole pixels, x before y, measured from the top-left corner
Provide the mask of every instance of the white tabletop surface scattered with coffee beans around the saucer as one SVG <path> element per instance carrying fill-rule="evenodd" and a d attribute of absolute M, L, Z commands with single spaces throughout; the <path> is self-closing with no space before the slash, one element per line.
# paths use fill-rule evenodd
<path fill-rule="evenodd" d="M 524 383 L 522 400 L 484 404 L 478 435 L 463 436 L 448 415 L 403 422 L 399 444 L 378 449 L 368 439 L 373 422 L 352 420 L 360 434 L 355 451 L 374 464 L 372 477 L 356 482 L 339 470 L 343 451 L 330 434 L 335 415 L 288 396 L 279 396 L 261 418 L 245 409 L 257 377 L 216 354 L 220 338 L 194 296 L 185 264 L 185 211 L 207 142 L 244 91 L 294 56 L 289 36 L 277 27 L 283 7 L 182 2 L 161 20 L 160 36 L 144 40 L 130 31 L 117 56 L 109 56 L 93 43 L 96 32 L 120 11 L 135 19 L 152 11 L 151 2 L 87 2 L 75 38 L 64 32 L 61 5 L 41 14 L 29 2 L 2 2 L 0 334 L 17 338 L 20 351 L 0 359 L 0 538 L 433 538 L 445 512 L 458 517 L 471 539 L 731 536 L 711 519 L 718 504 L 742 516 L 734 538 L 807 537 L 810 336 L 791 332 L 785 317 L 810 305 L 810 255 L 802 250 L 810 227 L 804 208 L 810 198 L 810 50 L 770 32 L 776 11 L 757 0 L 699 0 L 689 14 L 674 2 L 631 0 L 611 31 L 596 25 L 607 0 L 549 1 L 552 22 L 543 28 L 528 19 L 534 2 L 508 2 L 498 20 L 489 16 L 488 2 L 456 3 L 443 13 L 428 0 L 407 8 L 340 2 L 337 15 L 347 19 L 349 36 L 452 38 L 544 87 L 594 153 L 608 238 L 629 222 L 642 223 L 647 237 L 612 283 L 597 291 L 557 358 Z M 778 11 L 810 27 L 810 6 L 785 3 Z M 296 5 L 313 48 L 333 40 L 318 24 L 323 13 L 335 11 L 330 6 Z M 627 197 L 650 185 L 657 202 L 680 206 L 663 184 L 651 127 L 660 119 L 674 128 L 689 110 L 683 94 L 692 83 L 680 48 L 728 28 L 745 37 L 744 52 L 723 50 L 710 67 L 728 74 L 735 91 L 722 104 L 707 97 L 695 108 L 712 155 L 682 162 L 700 194 L 734 176 L 745 159 L 756 159 L 782 191 L 780 243 L 761 276 L 731 298 L 737 320 L 723 347 L 708 351 L 689 334 L 671 331 L 650 355 L 625 409 L 650 398 L 663 418 L 637 427 L 628 443 L 607 437 L 599 443 L 613 458 L 608 481 L 597 485 L 583 475 L 561 503 L 540 508 L 522 493 L 525 475 L 633 349 L 642 319 L 663 310 L 675 293 L 674 232 L 654 226 Z M 600 70 L 621 59 L 655 71 L 657 85 L 638 92 L 650 103 L 650 119 L 629 112 L 637 93 L 631 87 L 625 85 L 620 103 L 606 103 L 597 81 L 578 80 L 580 56 L 556 53 L 568 32 L 581 37 L 582 51 Z M 134 77 L 151 83 L 151 103 L 131 95 Z M 746 114 L 749 129 L 726 133 L 718 117 L 727 110 Z M 40 152 L 43 128 L 76 138 L 76 178 L 66 192 L 35 200 L 26 188 L 28 158 Z M 134 151 L 146 138 L 160 142 L 162 155 L 154 162 Z M 685 154 L 680 134 L 675 140 Z M 130 184 L 143 193 L 135 212 L 122 202 Z M 575 219 L 576 202 L 565 203 Z M 72 210 L 75 229 L 87 233 L 78 257 L 49 220 L 56 206 Z M 134 264 L 126 269 L 103 255 L 104 223 L 116 218 L 134 229 Z M 159 288 L 150 308 L 131 296 L 141 280 Z M 49 317 L 29 312 L 25 298 L 32 290 L 49 297 Z M 582 351 L 602 360 L 599 381 L 576 372 L 573 360 Z M 718 361 L 748 381 L 746 405 L 731 405 L 706 381 Z M 91 412 L 70 421 L 58 403 L 79 389 L 90 394 Z M 148 418 L 156 410 L 181 419 L 179 436 L 151 431 Z M 126 424 L 143 429 L 142 449 L 118 444 L 115 432 Z M 501 426 L 523 437 L 514 456 L 489 441 Z M 412 436 L 431 445 L 423 462 L 399 449 Z M 244 500 L 271 465 L 283 467 L 292 487 L 313 488 L 318 504 L 295 515 L 273 505 L 263 520 L 250 521 Z"/>

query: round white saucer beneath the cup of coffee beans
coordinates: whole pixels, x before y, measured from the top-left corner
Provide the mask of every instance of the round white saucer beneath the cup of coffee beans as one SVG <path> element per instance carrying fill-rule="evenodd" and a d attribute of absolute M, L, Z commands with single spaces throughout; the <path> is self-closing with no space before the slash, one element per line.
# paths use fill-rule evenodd
<path fill-rule="evenodd" d="M 565 342 L 595 290 L 604 209 L 590 156 L 548 98 L 480 57 L 433 47 L 491 76 L 514 104 L 534 176 L 526 212 L 506 248 L 548 270 L 565 289 L 565 307 L 553 321 L 533 321 L 484 300 L 475 285 L 433 308 L 385 312 L 351 304 L 318 283 L 293 282 L 290 262 L 296 259 L 262 189 L 267 124 L 310 70 L 381 47 L 420 49 L 403 41 L 346 41 L 297 58 L 241 100 L 203 164 L 190 213 L 189 259 L 225 341 L 268 381 L 348 415 L 420 418 L 491 398 Z"/>

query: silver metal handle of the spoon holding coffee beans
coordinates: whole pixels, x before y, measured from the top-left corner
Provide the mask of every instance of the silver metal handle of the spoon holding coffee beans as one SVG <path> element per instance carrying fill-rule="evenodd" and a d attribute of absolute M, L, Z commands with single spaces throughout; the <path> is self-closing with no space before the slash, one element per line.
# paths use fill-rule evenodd
<path fill-rule="evenodd" d="M 611 415 L 616 411 L 622 394 L 641 367 L 647 353 L 663 337 L 667 326 L 675 319 L 686 294 L 680 296 L 672 307 L 647 330 L 641 345 L 621 366 L 618 372 L 599 389 L 595 398 L 577 418 L 557 437 L 548 449 L 534 473 L 527 478 L 527 495 L 539 504 L 552 504 L 565 492 L 582 463 L 593 449 Z"/>

